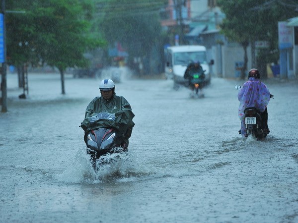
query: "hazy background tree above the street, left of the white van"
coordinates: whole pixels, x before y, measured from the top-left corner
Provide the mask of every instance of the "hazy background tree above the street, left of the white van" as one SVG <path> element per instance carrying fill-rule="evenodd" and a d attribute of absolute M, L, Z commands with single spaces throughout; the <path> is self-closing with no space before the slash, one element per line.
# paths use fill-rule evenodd
<path fill-rule="evenodd" d="M 103 7 L 101 27 L 110 45 L 120 42 L 129 56 L 150 58 L 160 44 L 159 9 L 163 0 L 110 0 Z M 162 49 L 162 48 L 161 48 Z"/>

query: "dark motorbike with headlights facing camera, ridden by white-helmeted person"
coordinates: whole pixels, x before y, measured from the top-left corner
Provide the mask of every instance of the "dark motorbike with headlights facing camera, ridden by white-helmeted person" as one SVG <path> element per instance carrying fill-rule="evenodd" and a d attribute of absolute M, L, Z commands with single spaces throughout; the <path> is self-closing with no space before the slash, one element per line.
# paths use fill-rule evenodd
<path fill-rule="evenodd" d="M 127 152 L 127 141 L 117 131 L 117 128 L 110 124 L 114 123 L 115 119 L 115 114 L 100 112 L 88 118 L 88 123 L 93 126 L 92 128 L 86 129 L 85 125 L 80 125 L 85 130 L 86 151 L 90 155 L 90 162 L 95 171 L 98 167 L 113 162 L 108 155 Z M 113 157 L 113 159 L 117 158 L 119 156 Z"/>

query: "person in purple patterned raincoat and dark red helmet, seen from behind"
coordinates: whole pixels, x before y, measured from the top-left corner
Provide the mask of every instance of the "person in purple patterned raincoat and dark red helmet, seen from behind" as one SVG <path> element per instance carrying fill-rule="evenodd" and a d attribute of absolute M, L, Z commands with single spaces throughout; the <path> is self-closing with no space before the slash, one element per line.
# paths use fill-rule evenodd
<path fill-rule="evenodd" d="M 240 88 L 238 93 L 240 102 L 238 115 L 241 120 L 241 129 L 239 134 L 246 137 L 244 110 L 249 107 L 255 107 L 262 113 L 263 131 L 267 134 L 270 132 L 267 124 L 268 112 L 267 105 L 270 101 L 270 92 L 267 86 L 260 81 L 259 70 L 253 68 L 248 72 L 248 81 Z"/>

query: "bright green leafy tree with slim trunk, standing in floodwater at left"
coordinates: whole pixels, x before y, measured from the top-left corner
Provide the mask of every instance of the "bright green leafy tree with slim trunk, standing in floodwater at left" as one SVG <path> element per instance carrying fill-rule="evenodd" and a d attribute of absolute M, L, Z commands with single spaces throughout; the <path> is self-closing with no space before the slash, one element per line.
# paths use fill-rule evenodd
<path fill-rule="evenodd" d="M 92 8 L 78 0 L 40 0 L 32 10 L 32 22 L 36 24 L 34 48 L 40 58 L 59 69 L 62 94 L 65 94 L 65 69 L 87 66 L 83 54 L 104 44 L 90 36 L 88 19 Z"/>

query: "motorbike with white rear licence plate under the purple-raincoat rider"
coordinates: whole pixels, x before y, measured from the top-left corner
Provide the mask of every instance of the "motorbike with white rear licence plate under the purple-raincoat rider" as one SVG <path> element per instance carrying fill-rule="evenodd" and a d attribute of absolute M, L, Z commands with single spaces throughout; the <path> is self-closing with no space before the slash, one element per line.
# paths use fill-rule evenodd
<path fill-rule="evenodd" d="M 236 85 L 235 89 L 240 90 L 241 86 Z M 274 95 L 270 95 L 270 98 L 273 98 Z M 274 99 L 274 98 L 273 98 Z M 245 118 L 245 128 L 247 136 L 252 135 L 256 137 L 258 140 L 262 140 L 266 138 L 269 131 L 265 128 L 264 122 L 262 120 L 262 112 L 259 111 L 255 107 L 249 107 L 244 110 L 244 118 Z M 239 134 L 241 132 L 239 131 Z"/>

